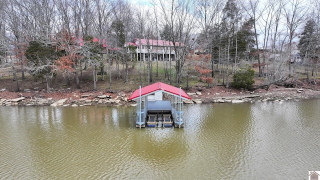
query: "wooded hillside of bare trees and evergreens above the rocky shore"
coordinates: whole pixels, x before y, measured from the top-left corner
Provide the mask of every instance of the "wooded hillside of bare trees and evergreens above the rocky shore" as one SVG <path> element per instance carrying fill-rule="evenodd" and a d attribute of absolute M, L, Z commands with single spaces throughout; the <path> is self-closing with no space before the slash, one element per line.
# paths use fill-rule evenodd
<path fill-rule="evenodd" d="M 233 74 L 252 69 L 259 83 L 245 87 L 315 83 L 320 1 L 311 1 L 1 0 L 0 68 L 16 91 L 30 77 L 48 91 L 57 79 L 79 89 L 91 80 L 85 88 L 93 90 L 99 80 L 105 89 L 156 80 L 187 88 L 194 79 L 228 88 Z M 125 45 L 134 38 L 183 45 L 174 45 L 174 61 L 155 62 L 151 53 L 140 61 Z"/>

